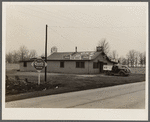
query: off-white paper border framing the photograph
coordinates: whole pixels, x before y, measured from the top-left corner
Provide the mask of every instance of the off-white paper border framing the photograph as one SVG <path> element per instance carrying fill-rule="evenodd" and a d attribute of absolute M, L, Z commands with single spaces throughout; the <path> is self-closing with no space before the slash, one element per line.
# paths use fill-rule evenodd
<path fill-rule="evenodd" d="M 148 2 L 146 41 L 146 101 L 145 109 L 55 109 L 55 108 L 5 108 L 5 47 L 6 5 L 98 5 L 102 2 L 3 2 L 2 3 L 2 120 L 148 120 Z M 106 2 L 108 3 L 108 2 Z M 114 5 L 115 2 L 110 2 Z M 123 4 L 123 2 L 121 2 Z M 135 2 L 134 2 L 135 3 Z M 130 5 L 132 3 L 130 2 Z M 141 2 L 138 2 L 141 4 Z"/>

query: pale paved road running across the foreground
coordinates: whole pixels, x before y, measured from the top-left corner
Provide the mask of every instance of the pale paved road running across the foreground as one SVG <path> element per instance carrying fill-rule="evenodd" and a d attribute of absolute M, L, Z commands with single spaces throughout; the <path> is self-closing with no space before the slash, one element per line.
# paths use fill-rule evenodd
<path fill-rule="evenodd" d="M 144 109 L 145 82 L 7 102 L 5 107 Z"/>

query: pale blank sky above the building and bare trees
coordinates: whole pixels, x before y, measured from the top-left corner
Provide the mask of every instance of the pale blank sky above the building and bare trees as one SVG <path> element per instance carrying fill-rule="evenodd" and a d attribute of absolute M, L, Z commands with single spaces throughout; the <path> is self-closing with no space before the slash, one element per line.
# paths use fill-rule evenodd
<path fill-rule="evenodd" d="M 106 39 L 110 52 L 126 56 L 129 50 L 146 51 L 147 2 L 3 2 L 6 53 L 25 45 L 48 55 L 58 52 L 94 51 Z"/>

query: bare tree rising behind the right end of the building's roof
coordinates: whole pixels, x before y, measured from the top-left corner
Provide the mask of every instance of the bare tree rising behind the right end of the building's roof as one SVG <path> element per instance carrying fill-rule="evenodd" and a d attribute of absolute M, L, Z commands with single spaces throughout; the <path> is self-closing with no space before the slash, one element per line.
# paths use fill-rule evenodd
<path fill-rule="evenodd" d="M 101 46 L 102 49 L 103 49 L 103 52 L 105 54 L 108 54 L 109 53 L 109 43 L 106 41 L 106 39 L 101 39 L 99 42 L 98 42 L 98 46 Z"/>

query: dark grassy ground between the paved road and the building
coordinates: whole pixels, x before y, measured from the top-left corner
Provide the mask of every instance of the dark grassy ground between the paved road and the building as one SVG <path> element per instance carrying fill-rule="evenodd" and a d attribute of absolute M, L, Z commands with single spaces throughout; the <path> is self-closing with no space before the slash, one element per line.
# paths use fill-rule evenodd
<path fill-rule="evenodd" d="M 37 73 L 7 71 L 6 97 L 34 91 L 47 91 L 46 95 L 64 92 L 80 91 L 102 88 L 127 83 L 145 81 L 144 74 L 131 74 L 130 76 L 77 75 L 48 73 L 47 82 L 44 82 L 44 73 L 41 74 L 41 85 L 37 85 Z M 18 76 L 20 82 L 15 79 Z M 27 78 L 27 81 L 23 79 Z"/>

